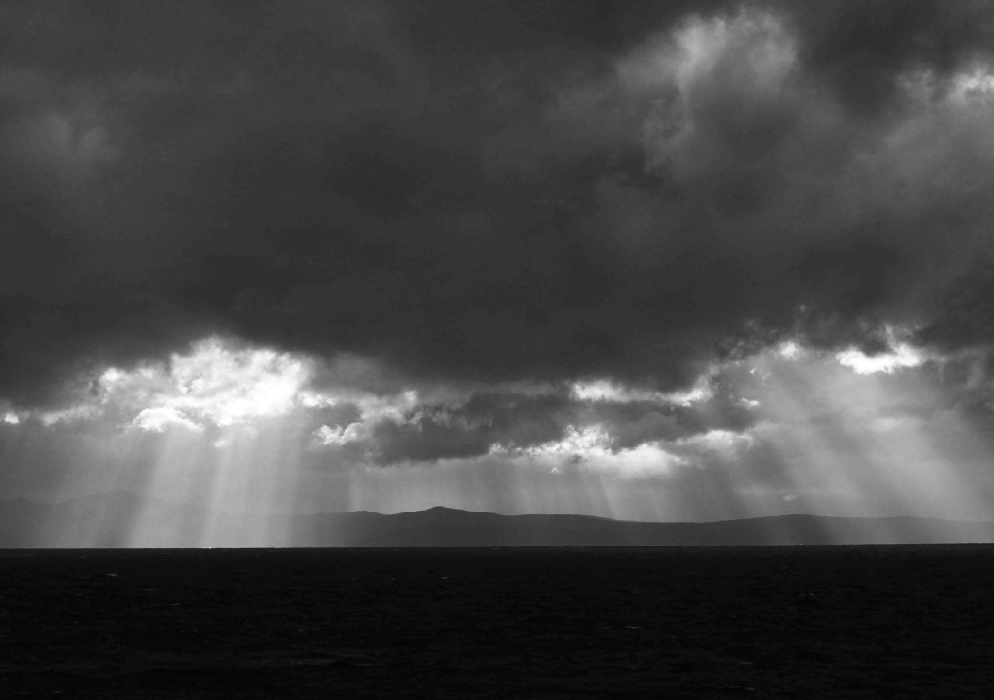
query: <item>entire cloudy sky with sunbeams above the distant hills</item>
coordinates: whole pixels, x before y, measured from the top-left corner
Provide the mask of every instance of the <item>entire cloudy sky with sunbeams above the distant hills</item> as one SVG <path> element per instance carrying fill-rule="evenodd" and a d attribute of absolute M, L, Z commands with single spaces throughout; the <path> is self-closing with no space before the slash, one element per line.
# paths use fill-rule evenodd
<path fill-rule="evenodd" d="M 994 4 L 0 4 L 0 498 L 994 519 Z"/>

